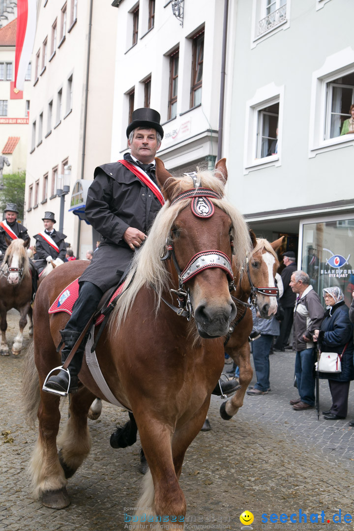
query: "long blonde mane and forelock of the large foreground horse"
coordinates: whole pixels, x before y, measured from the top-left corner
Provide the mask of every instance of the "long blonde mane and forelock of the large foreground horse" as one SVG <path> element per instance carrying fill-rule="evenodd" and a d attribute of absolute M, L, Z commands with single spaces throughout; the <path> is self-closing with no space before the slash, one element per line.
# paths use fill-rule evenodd
<path fill-rule="evenodd" d="M 234 249 L 238 256 L 237 267 L 240 269 L 245 264 L 246 256 L 251 252 L 251 240 L 248 234 L 248 228 L 243 216 L 239 211 L 229 203 L 224 197 L 223 181 L 215 174 L 218 170 L 199 171 L 197 168 L 197 187 L 209 188 L 217 192 L 222 199 L 210 199 L 215 206 L 223 210 L 231 219 L 232 232 L 231 237 L 234 240 Z M 193 187 L 191 177 L 184 175 L 182 177 L 171 177 L 165 184 L 165 189 L 169 191 L 172 200 L 180 193 L 190 190 Z M 156 311 L 161 303 L 162 291 L 169 284 L 169 272 L 164 262 L 161 262 L 161 256 L 166 254 L 166 239 L 170 236 L 171 227 L 174 224 L 179 212 L 188 204 L 190 199 L 180 200 L 170 206 L 170 201 L 166 201 L 161 208 L 146 238 L 144 245 L 139 252 L 136 252 L 131 263 L 129 275 L 126 279 L 125 286 L 128 290 L 123 291 L 123 296 L 118 300 L 117 306 L 113 313 L 113 319 L 110 323 L 110 330 L 114 331 L 116 327 L 124 320 L 134 303 L 135 297 L 143 286 L 153 285 L 157 293 Z M 134 277 L 134 278 L 133 278 Z M 126 288 L 125 288 L 126 289 Z"/>

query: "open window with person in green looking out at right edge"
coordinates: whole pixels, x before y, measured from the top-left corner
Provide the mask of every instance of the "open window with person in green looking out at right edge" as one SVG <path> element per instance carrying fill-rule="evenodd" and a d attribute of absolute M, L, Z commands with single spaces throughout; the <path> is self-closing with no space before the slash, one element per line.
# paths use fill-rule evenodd
<path fill-rule="evenodd" d="M 326 83 L 326 120 L 324 138 L 354 133 L 354 72 Z"/>

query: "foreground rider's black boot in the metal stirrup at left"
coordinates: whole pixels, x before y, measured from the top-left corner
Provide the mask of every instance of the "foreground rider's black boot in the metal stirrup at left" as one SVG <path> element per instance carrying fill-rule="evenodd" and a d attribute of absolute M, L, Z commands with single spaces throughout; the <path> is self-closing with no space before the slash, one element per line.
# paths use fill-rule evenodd
<path fill-rule="evenodd" d="M 66 358 L 71 353 L 77 339 L 80 337 L 81 332 L 75 332 L 74 330 L 61 330 L 60 331 L 62 339 L 65 343 L 65 346 L 62 350 L 62 363 L 64 364 Z M 50 376 L 46 383 L 46 388 L 53 389 L 53 391 L 69 392 L 72 393 L 77 391 L 77 384 L 79 383 L 79 374 L 83 359 L 83 354 L 85 352 L 87 338 L 85 337 L 79 348 L 76 350 L 71 362 L 69 363 L 67 369 L 70 372 L 70 387 L 69 387 L 69 376 L 67 372 L 63 369 L 59 371 L 58 374 Z M 46 391 L 47 389 L 45 389 Z"/>

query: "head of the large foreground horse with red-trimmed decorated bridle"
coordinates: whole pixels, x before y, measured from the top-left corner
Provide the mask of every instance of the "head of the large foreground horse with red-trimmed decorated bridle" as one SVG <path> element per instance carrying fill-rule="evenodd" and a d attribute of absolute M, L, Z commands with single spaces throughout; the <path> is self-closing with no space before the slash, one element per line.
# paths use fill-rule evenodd
<path fill-rule="evenodd" d="M 241 256 L 249 252 L 246 224 L 223 198 L 225 159 L 217 163 L 215 172 L 193 176 L 173 178 L 159 159 L 156 170 L 167 202 L 161 218 L 165 213 L 169 220 L 168 253 L 163 254 L 169 258 L 168 270 L 177 296 L 185 299 L 184 304 L 190 299 L 201 337 L 223 336 L 236 316 L 230 296 L 232 252 L 235 249 Z M 149 235 L 153 237 L 154 230 Z"/>

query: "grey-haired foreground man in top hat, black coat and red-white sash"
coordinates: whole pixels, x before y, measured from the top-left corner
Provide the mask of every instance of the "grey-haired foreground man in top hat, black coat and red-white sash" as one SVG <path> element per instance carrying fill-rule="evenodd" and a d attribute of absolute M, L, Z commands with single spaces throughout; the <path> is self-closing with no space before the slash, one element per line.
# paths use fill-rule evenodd
<path fill-rule="evenodd" d="M 154 159 L 163 138 L 160 114 L 151 108 L 134 110 L 126 135 L 131 155 L 126 153 L 124 160 L 97 167 L 88 191 L 85 215 L 103 239 L 79 279 L 79 297 L 71 318 L 61 330 L 65 344 L 63 363 L 97 309 L 103 293 L 122 278 L 163 204 Z M 67 372 L 61 369 L 57 375 L 48 378 L 45 390 L 57 393 L 77 389 L 77 374 L 81 369 L 87 336 L 68 365 L 70 385 Z M 221 385 L 225 393 L 232 392 L 235 387 L 234 382 L 222 382 Z"/>

